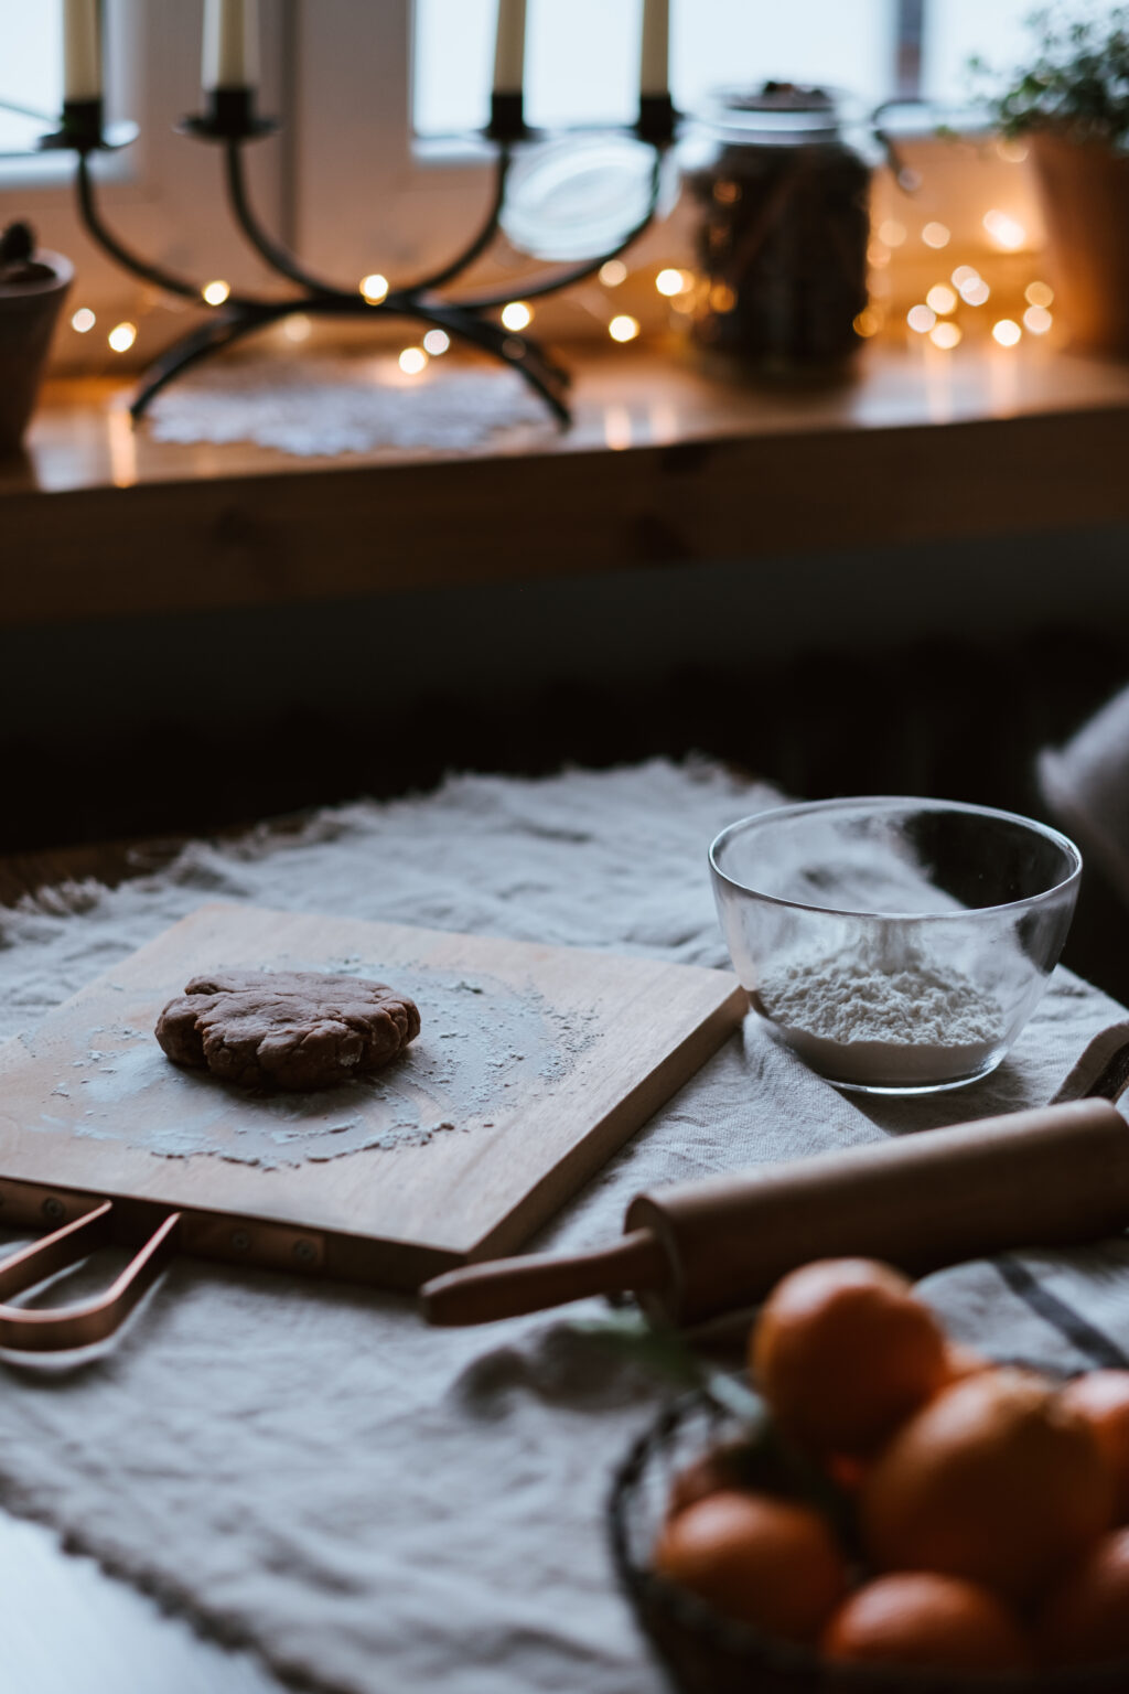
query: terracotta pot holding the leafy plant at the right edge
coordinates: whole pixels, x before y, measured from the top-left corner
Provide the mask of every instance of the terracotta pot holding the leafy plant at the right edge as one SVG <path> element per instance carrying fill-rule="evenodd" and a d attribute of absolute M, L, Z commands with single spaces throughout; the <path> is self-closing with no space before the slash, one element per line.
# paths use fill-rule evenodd
<path fill-rule="evenodd" d="M 1129 357 L 1129 159 L 1053 129 L 1034 130 L 1031 144 L 1071 342 Z"/>

